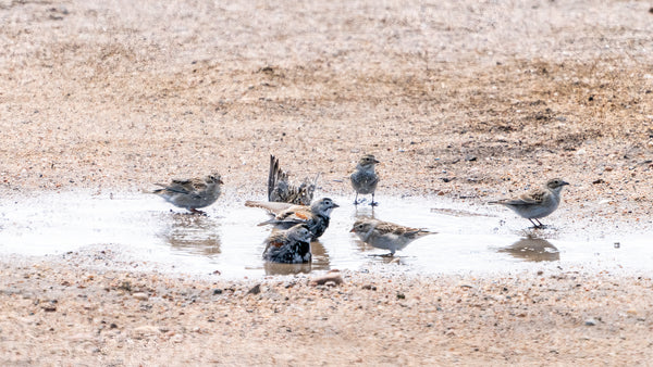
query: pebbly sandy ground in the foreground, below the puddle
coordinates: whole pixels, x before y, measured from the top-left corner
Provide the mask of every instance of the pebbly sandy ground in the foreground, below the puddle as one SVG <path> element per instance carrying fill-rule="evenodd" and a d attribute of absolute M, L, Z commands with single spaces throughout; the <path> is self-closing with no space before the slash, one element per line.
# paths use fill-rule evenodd
<path fill-rule="evenodd" d="M 110 251 L 0 268 L 3 365 L 645 365 L 651 278 L 346 271 L 227 282 L 110 270 Z M 250 292 L 259 284 L 259 293 Z"/>

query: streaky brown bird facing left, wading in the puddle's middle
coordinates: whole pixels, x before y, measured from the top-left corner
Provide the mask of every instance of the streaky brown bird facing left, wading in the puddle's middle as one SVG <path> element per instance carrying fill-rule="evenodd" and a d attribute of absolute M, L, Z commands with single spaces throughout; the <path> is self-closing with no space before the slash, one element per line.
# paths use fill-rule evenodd
<path fill-rule="evenodd" d="M 373 248 L 390 250 L 390 253 L 384 256 L 394 256 L 397 250 L 403 250 L 408 243 L 424 236 L 436 233 L 373 218 L 356 220 L 349 232 L 356 233 L 362 242 Z"/>

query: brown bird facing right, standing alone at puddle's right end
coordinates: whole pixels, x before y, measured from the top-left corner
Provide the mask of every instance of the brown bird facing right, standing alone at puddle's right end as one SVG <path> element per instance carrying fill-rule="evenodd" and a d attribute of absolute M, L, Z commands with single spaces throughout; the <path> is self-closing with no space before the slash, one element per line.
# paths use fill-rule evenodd
<path fill-rule="evenodd" d="M 553 178 L 547 180 L 542 188 L 525 192 L 514 199 L 491 201 L 489 204 L 507 206 L 522 218 L 530 220 L 534 228 L 543 228 L 544 225 L 542 225 L 540 218 L 547 216 L 558 207 L 560 191 L 566 185 L 569 185 L 569 182 L 560 178 Z"/>

